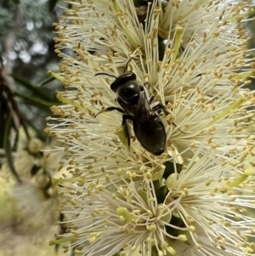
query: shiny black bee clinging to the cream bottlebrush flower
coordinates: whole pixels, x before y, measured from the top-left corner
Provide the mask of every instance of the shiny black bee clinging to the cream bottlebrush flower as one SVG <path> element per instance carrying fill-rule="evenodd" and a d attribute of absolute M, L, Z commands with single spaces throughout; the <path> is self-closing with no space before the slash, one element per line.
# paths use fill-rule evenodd
<path fill-rule="evenodd" d="M 127 61 L 127 65 L 128 62 Z M 136 75 L 133 72 L 125 74 L 127 65 L 123 75 L 115 77 L 107 73 L 97 73 L 96 76 L 106 75 L 114 77 L 116 80 L 111 83 L 111 90 L 117 95 L 116 101 L 122 108 L 116 106 L 107 107 L 105 110 L 99 111 L 95 116 L 106 111 L 119 111 L 122 113 L 122 126 L 127 136 L 127 145 L 130 146 L 130 135 L 127 126 L 127 120 L 133 122 L 133 132 L 139 143 L 146 151 L 159 156 L 166 148 L 167 134 L 161 118 L 157 111 L 163 110 L 166 114 L 167 108 L 161 103 L 150 106 L 154 100 L 154 96 L 148 100 L 144 85 L 139 85 Z"/>

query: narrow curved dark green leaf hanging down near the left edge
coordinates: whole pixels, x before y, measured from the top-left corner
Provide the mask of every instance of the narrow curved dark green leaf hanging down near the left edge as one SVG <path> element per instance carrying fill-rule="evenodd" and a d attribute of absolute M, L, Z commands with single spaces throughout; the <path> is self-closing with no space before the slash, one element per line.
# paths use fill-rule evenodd
<path fill-rule="evenodd" d="M 20 176 L 17 174 L 16 169 L 14 168 L 14 160 L 12 156 L 12 147 L 10 143 L 10 134 L 11 134 L 11 129 L 13 128 L 13 115 L 12 112 L 8 112 L 8 118 L 7 118 L 7 123 L 5 126 L 5 132 L 4 132 L 4 138 L 3 138 L 3 145 L 4 145 L 4 151 L 5 151 L 5 157 L 7 159 L 8 167 L 10 168 L 12 174 L 14 174 L 14 177 L 17 179 L 19 183 L 21 183 Z"/>

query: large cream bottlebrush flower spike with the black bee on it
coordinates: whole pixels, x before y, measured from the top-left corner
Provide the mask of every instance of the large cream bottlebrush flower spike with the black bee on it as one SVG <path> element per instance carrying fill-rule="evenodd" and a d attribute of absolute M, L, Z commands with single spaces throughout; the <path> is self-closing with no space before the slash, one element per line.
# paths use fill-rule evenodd
<path fill-rule="evenodd" d="M 70 198 L 70 233 L 52 243 L 71 241 L 81 255 L 137 248 L 143 255 L 250 255 L 253 220 L 243 208 L 253 208 L 255 199 L 254 172 L 246 168 L 255 98 L 243 87 L 254 64 L 241 27 L 252 14 L 249 4 L 71 4 L 56 25 L 61 73 L 51 72 L 66 88 L 58 94 L 64 105 L 52 108 L 57 117 L 48 120 L 59 123 L 46 128 L 65 143 L 59 150 L 70 174 L 55 183 Z M 155 96 L 153 103 L 169 111 L 160 114 L 167 133 L 161 156 L 145 151 L 134 134 L 128 149 L 118 111 L 95 118 L 117 106 L 111 77 L 122 75 L 128 60 L 127 72 L 144 84 L 148 99 Z"/>

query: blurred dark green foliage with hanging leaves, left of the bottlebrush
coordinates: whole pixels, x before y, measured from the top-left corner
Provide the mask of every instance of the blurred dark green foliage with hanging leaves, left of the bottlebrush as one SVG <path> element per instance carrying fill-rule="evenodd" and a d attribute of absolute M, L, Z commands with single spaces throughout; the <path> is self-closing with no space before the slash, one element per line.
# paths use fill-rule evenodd
<path fill-rule="evenodd" d="M 59 71 L 52 32 L 61 14 L 57 3 L 0 0 L 0 149 L 15 176 L 12 151 L 20 128 L 27 139 L 47 139 L 45 118 L 59 103 L 55 91 L 60 84 L 48 77 L 48 70 Z"/>

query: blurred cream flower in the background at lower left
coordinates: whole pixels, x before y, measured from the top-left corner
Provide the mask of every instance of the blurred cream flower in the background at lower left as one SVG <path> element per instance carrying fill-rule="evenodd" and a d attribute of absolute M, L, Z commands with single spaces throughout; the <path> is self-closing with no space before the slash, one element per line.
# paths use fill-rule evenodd
<path fill-rule="evenodd" d="M 57 175 L 62 156 L 56 152 L 51 154 L 40 139 L 31 139 L 25 147 L 20 146 L 14 152 L 14 167 L 21 180 L 19 184 L 15 184 L 8 165 L 3 165 L 4 180 L 10 180 L 4 191 L 20 230 L 26 233 L 40 230 L 42 233 L 59 218 L 59 195 L 52 179 Z"/>

